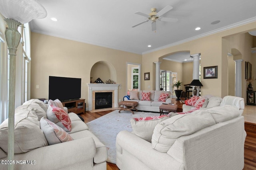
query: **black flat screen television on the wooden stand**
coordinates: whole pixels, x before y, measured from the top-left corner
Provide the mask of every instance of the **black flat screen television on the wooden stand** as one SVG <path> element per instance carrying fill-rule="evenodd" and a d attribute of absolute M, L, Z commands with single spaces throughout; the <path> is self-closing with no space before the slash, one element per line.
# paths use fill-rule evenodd
<path fill-rule="evenodd" d="M 48 100 L 58 99 L 61 102 L 81 98 L 81 78 L 49 76 Z"/>

